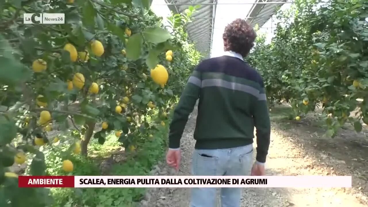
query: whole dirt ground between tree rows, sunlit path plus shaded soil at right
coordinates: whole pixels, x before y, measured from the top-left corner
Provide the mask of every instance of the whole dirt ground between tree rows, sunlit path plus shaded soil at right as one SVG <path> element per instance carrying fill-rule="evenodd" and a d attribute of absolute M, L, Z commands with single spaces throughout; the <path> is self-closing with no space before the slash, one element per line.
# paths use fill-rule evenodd
<path fill-rule="evenodd" d="M 302 121 L 285 121 L 277 106 L 271 112 L 272 133 L 266 163 L 267 175 L 351 175 L 351 189 L 245 188 L 242 207 L 363 207 L 368 206 L 368 140 L 367 129 L 357 134 L 341 130 L 335 138 L 323 137 L 313 117 Z M 287 107 L 287 106 L 286 106 Z M 193 111 L 181 141 L 182 163 L 177 175 L 190 175 L 192 138 L 197 109 Z M 364 126 L 366 128 L 366 126 Z M 256 144 L 254 144 L 256 147 Z M 254 154 L 255 156 L 255 154 Z M 254 157 L 255 159 L 255 157 Z M 156 175 L 174 175 L 160 162 Z M 190 189 L 150 189 L 142 206 L 188 207 Z M 220 206 L 219 204 L 217 206 Z"/>

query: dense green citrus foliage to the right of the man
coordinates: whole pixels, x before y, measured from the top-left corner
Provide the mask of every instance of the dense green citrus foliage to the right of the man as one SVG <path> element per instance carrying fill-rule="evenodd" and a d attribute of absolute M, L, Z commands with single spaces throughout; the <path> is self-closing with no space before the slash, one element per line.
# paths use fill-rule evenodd
<path fill-rule="evenodd" d="M 346 122 L 360 132 L 360 120 L 368 124 L 367 17 L 365 0 L 297 0 L 281 12 L 271 43 L 259 36 L 247 58 L 269 102 L 289 102 L 297 120 L 322 103 L 328 136 Z"/>

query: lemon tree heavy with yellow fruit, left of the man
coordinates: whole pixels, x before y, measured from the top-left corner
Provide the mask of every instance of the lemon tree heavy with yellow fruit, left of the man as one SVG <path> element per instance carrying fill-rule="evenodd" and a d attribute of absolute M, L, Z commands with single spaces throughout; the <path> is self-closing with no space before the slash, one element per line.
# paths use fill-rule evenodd
<path fill-rule="evenodd" d="M 5 31 L 0 36 L 0 206 L 52 202 L 48 189 L 19 189 L 8 168 L 28 162 L 30 175 L 46 175 L 41 149 L 52 150 L 60 141 L 48 136 L 50 130 L 77 137 L 60 163 L 72 174 L 78 166 L 68 157 L 86 156 L 91 138 L 104 144 L 115 133 L 126 151 L 134 152 L 165 126 L 201 58 L 184 29 L 196 7 L 174 15 L 169 32 L 149 10 L 150 2 L 0 3 Z M 60 25 L 27 25 L 23 13 L 64 13 L 66 19 Z M 149 124 L 156 110 L 160 119 Z"/>

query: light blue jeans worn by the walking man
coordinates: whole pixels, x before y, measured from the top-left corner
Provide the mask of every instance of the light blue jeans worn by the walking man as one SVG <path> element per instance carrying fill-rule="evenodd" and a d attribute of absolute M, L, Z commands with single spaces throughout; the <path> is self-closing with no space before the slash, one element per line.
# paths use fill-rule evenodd
<path fill-rule="evenodd" d="M 192 175 L 249 175 L 252 154 L 252 144 L 229 149 L 195 149 L 192 156 Z M 215 207 L 216 190 L 216 188 L 192 188 L 190 207 Z M 221 188 L 220 194 L 222 207 L 240 207 L 241 188 Z"/>

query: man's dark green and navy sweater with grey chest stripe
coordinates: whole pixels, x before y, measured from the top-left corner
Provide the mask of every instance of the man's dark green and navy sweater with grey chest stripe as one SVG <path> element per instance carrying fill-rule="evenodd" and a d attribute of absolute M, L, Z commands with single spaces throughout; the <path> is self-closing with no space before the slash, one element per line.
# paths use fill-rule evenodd
<path fill-rule="evenodd" d="M 174 110 L 169 148 L 180 147 L 185 124 L 198 98 L 195 148 L 223 149 L 251 144 L 255 127 L 256 161 L 266 162 L 270 119 L 263 81 L 255 69 L 233 52 L 199 63 Z"/>

